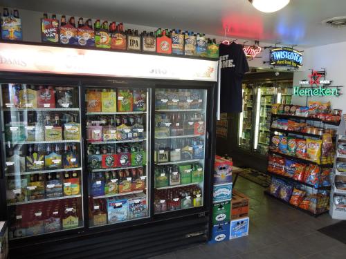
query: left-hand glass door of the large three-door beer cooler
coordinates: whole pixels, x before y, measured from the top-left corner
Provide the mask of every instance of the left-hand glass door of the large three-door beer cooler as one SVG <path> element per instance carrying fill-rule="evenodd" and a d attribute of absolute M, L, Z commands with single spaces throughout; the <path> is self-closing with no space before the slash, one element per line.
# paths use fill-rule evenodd
<path fill-rule="evenodd" d="M 1 84 L 10 239 L 83 227 L 79 92 Z"/>

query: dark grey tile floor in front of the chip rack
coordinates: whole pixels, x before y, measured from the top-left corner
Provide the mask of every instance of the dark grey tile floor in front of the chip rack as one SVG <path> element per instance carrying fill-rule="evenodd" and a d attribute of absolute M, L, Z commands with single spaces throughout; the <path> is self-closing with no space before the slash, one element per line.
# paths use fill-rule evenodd
<path fill-rule="evenodd" d="M 200 244 L 152 259 L 345 259 L 346 244 L 317 230 L 337 220 L 313 218 L 263 194 L 264 188 L 239 177 L 235 189 L 248 195 L 249 236 L 219 244 Z M 217 257 L 216 257 L 217 256 Z"/>

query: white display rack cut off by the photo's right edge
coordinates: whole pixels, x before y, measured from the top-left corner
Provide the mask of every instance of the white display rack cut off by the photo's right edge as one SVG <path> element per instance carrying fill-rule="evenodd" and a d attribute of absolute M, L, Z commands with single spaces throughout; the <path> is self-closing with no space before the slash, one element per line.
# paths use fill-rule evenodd
<path fill-rule="evenodd" d="M 329 214 L 331 218 L 346 220 L 346 114 L 341 118 L 337 134 Z"/>

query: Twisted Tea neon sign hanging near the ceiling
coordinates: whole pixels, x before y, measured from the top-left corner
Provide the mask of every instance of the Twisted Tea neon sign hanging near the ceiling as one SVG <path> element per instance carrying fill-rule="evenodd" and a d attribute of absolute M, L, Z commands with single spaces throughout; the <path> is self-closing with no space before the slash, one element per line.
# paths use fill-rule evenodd
<path fill-rule="evenodd" d="M 273 66 L 300 68 L 302 66 L 302 53 L 289 47 L 274 48 L 271 50 L 270 62 Z"/>

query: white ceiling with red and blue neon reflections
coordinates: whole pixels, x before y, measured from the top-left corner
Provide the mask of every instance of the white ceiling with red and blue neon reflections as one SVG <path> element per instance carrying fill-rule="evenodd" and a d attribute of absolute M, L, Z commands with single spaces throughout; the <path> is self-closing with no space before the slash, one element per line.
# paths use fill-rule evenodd
<path fill-rule="evenodd" d="M 208 35 L 224 35 L 228 26 L 229 37 L 299 46 L 346 41 L 346 28 L 321 24 L 323 19 L 346 15 L 345 0 L 291 0 L 271 14 L 255 10 L 248 0 L 0 0 L 0 4 Z"/>

